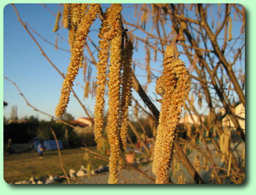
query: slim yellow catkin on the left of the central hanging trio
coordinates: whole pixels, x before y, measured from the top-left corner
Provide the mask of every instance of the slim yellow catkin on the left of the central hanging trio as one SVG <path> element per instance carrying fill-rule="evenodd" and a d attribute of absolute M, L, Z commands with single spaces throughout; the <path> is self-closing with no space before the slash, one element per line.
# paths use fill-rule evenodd
<path fill-rule="evenodd" d="M 104 94 L 106 86 L 106 72 L 108 66 L 109 58 L 109 41 L 104 39 L 104 34 L 109 31 L 108 20 L 110 13 L 110 8 L 104 13 L 104 21 L 101 23 L 100 33 L 99 33 L 99 61 L 96 65 L 97 67 L 97 89 L 96 89 L 96 103 L 94 106 L 94 135 L 95 138 L 100 138 L 102 136 L 103 122 L 104 122 Z"/>

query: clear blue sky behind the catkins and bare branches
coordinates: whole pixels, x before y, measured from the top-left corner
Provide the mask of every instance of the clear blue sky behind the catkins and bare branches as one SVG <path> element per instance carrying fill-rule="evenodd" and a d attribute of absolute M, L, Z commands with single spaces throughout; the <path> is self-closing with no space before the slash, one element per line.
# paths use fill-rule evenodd
<path fill-rule="evenodd" d="M 46 4 L 49 9 L 51 9 L 55 14 L 57 11 L 62 11 L 62 6 L 59 4 Z M 29 26 L 35 29 L 43 38 L 48 41 L 55 43 L 56 33 L 52 32 L 55 24 L 55 16 L 53 16 L 46 8 L 40 4 L 15 4 L 21 19 L 27 22 Z M 127 21 L 133 22 L 134 19 L 134 8 L 129 8 L 130 4 L 123 4 L 124 10 L 122 11 L 123 16 Z M 102 4 L 103 9 L 109 7 L 108 4 Z M 217 6 L 216 6 L 217 7 Z M 149 26 L 149 25 L 148 25 Z M 233 24 L 233 36 L 237 36 L 239 33 Z M 98 30 L 100 27 L 100 20 L 97 19 L 92 29 Z M 170 28 L 170 27 L 169 27 Z M 29 29 L 29 28 L 28 28 Z M 29 29 L 30 32 L 31 29 Z M 146 29 L 150 31 L 150 29 Z M 171 29 L 170 29 L 171 30 Z M 240 31 L 240 28 L 239 28 Z M 136 31 L 137 33 L 138 31 Z M 63 38 L 68 39 L 68 30 L 65 28 L 60 28 L 57 33 L 59 33 Z M 91 31 L 90 37 L 98 43 L 97 31 Z M 66 73 L 67 67 L 70 62 L 70 53 L 57 50 L 36 34 L 32 35 L 37 39 L 44 52 L 48 55 L 50 60 L 59 68 L 63 73 Z M 137 33 L 139 37 L 145 37 L 145 34 L 139 32 Z M 66 41 L 58 41 L 58 46 L 69 50 L 69 45 Z M 134 53 L 134 59 L 140 60 L 144 63 L 144 50 L 143 44 L 139 45 L 140 49 L 138 52 Z M 87 53 L 85 52 L 85 55 Z M 151 54 L 153 55 L 153 53 Z M 97 52 L 94 53 L 97 60 Z M 162 70 L 161 60 L 162 56 L 158 54 L 158 62 L 151 63 L 152 67 Z M 182 59 L 185 61 L 185 59 Z M 186 63 L 186 61 L 185 61 Z M 92 77 L 96 76 L 96 68 L 92 66 Z M 187 65 L 188 66 L 188 65 Z M 136 67 L 136 74 L 145 75 L 145 71 L 140 70 Z M 159 73 L 154 72 L 156 76 Z M 48 63 L 45 57 L 41 54 L 39 48 L 36 46 L 34 41 L 28 35 L 24 27 L 18 22 L 17 16 L 14 12 L 13 7 L 8 4 L 4 8 L 4 77 L 13 80 L 18 87 L 21 89 L 23 94 L 28 99 L 29 103 L 34 105 L 37 109 L 42 110 L 52 116 L 55 113 L 55 107 L 58 103 L 60 89 L 62 86 L 63 78 L 57 73 L 57 71 Z M 138 77 L 142 84 L 146 83 L 145 77 Z M 83 70 L 80 70 L 79 75 L 74 82 L 83 84 Z M 10 117 L 10 113 L 13 105 L 17 105 L 18 117 L 29 117 L 31 115 L 38 116 L 41 119 L 50 119 L 50 117 L 44 116 L 36 111 L 33 111 L 31 107 L 26 105 L 24 99 L 18 94 L 18 91 L 12 83 L 4 79 L 4 96 L 3 99 L 8 103 L 8 106 L 4 108 L 4 116 L 6 118 Z M 78 97 L 83 101 L 84 90 L 78 85 L 74 86 L 74 90 Z M 155 83 L 152 82 L 148 88 L 148 94 L 153 98 L 153 92 L 155 91 Z M 142 100 L 134 93 L 136 99 Z M 95 104 L 95 99 L 85 99 L 85 107 L 88 108 L 93 113 L 93 107 Z M 159 108 L 159 103 L 155 102 L 156 106 Z M 78 102 L 71 96 L 70 103 L 67 108 L 67 112 L 71 113 L 75 118 L 86 117 L 83 109 L 78 104 Z"/>

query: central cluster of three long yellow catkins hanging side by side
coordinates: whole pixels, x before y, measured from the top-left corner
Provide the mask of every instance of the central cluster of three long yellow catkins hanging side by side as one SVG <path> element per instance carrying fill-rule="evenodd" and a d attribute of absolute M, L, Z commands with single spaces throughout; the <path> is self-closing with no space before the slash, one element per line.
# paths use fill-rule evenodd
<path fill-rule="evenodd" d="M 96 139 L 102 136 L 104 93 L 108 74 L 109 110 L 107 136 L 110 145 L 109 183 L 118 183 L 117 164 L 120 151 L 127 147 L 128 106 L 131 104 L 132 50 L 130 40 L 124 37 L 120 12 L 121 4 L 112 4 L 104 13 L 99 34 L 99 62 L 97 64 L 97 95 L 94 108 Z M 124 42 L 124 39 L 126 41 Z M 109 56 L 110 53 L 110 56 Z"/>

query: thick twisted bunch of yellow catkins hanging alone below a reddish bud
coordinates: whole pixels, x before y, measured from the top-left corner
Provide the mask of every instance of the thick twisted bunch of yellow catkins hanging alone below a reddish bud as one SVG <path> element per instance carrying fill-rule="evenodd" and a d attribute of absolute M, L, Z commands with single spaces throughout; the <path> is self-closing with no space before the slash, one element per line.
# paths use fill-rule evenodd
<path fill-rule="evenodd" d="M 153 173 L 156 174 L 156 183 L 159 184 L 169 182 L 176 126 L 190 81 L 184 63 L 178 59 L 175 43 L 176 39 L 167 46 L 163 59 L 163 74 L 156 81 L 156 93 L 162 96 L 162 101 L 156 132 Z"/>

